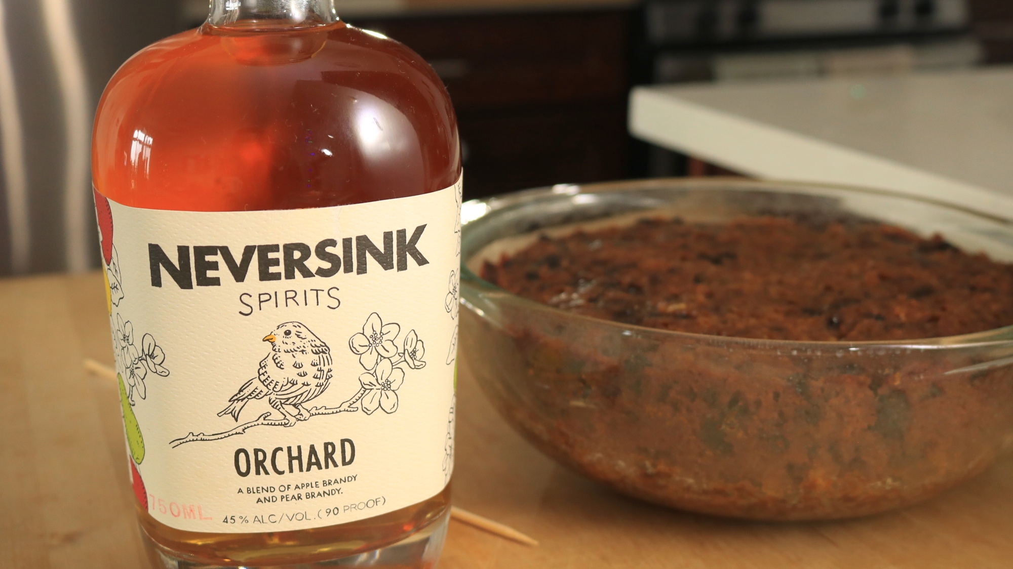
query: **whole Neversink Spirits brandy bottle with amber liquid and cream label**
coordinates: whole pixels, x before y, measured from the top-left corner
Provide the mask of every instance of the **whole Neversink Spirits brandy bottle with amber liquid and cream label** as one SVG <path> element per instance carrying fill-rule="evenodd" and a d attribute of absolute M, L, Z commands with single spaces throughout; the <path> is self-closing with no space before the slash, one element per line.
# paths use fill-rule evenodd
<path fill-rule="evenodd" d="M 213 0 L 109 81 L 92 170 L 156 566 L 434 566 L 462 169 L 433 69 L 331 0 Z"/>

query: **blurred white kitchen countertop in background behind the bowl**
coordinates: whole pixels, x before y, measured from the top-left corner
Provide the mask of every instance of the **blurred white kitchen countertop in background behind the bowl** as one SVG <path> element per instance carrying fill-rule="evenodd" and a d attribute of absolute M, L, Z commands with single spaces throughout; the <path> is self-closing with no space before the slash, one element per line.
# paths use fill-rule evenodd
<path fill-rule="evenodd" d="M 1013 68 L 640 87 L 630 132 L 761 178 L 908 191 L 1013 219 Z"/>

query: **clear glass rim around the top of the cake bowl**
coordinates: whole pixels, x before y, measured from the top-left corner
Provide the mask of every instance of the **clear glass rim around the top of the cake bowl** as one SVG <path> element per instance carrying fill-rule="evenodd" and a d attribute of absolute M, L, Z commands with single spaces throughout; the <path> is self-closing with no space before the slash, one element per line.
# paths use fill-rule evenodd
<path fill-rule="evenodd" d="M 537 201 L 539 199 L 551 197 L 553 195 L 577 195 L 577 194 L 590 194 L 590 193 L 607 193 L 607 192 L 621 192 L 639 189 L 651 189 L 651 188 L 671 188 L 673 186 L 692 186 L 696 189 L 718 189 L 718 188 L 729 188 L 729 186 L 734 186 L 735 189 L 759 189 L 759 190 L 784 190 L 791 188 L 810 188 L 810 189 L 831 189 L 837 191 L 846 192 L 856 192 L 863 194 L 873 194 L 873 195 L 883 195 L 889 197 L 898 197 L 903 199 L 910 199 L 912 201 L 919 201 L 922 204 L 929 204 L 932 206 L 962 212 L 975 217 L 984 218 L 994 223 L 1000 223 L 1004 225 L 1013 226 L 1013 222 L 1010 220 L 996 216 L 981 210 L 976 210 L 973 208 L 968 208 L 944 200 L 933 199 L 928 197 L 922 197 L 913 193 L 908 193 L 899 190 L 881 189 L 881 188 L 869 188 L 862 186 L 852 186 L 845 184 L 834 184 L 834 183 L 824 183 L 824 182 L 806 182 L 797 180 L 755 180 L 749 178 L 739 177 L 726 177 L 726 176 L 713 176 L 707 178 L 645 178 L 645 179 L 631 179 L 631 180 L 619 180 L 619 181 L 608 181 L 608 182 L 594 182 L 594 183 L 571 183 L 571 184 L 555 184 L 551 186 L 536 187 L 530 189 L 524 189 L 509 193 L 500 193 L 496 195 L 491 195 L 488 197 L 482 197 L 477 199 L 470 199 L 462 205 L 462 218 L 461 218 L 461 237 L 462 241 L 465 239 L 467 234 L 467 228 L 469 225 L 479 222 L 480 220 L 489 219 L 497 212 L 511 209 L 516 206 L 521 206 L 529 204 L 531 201 Z M 710 186 L 710 187 L 708 187 Z M 477 213 L 477 212 L 481 213 Z M 469 300 L 465 298 L 465 289 L 469 287 L 474 288 L 476 294 L 488 294 L 493 293 L 497 297 L 502 297 L 508 299 L 511 303 L 517 304 L 529 310 L 534 310 L 537 312 L 544 312 L 555 315 L 557 317 L 565 317 L 576 320 L 585 320 L 589 323 L 594 323 L 598 326 L 606 326 L 609 328 L 616 328 L 617 332 L 631 336 L 660 336 L 669 338 L 684 338 L 686 340 L 694 340 L 697 342 L 703 341 L 708 343 L 723 343 L 723 344 L 737 344 L 743 346 L 751 347 L 770 347 L 775 349 L 802 349 L 802 350 L 840 350 L 849 349 L 851 351 L 866 350 L 866 349 L 919 349 L 919 350 L 952 350 L 952 349 L 967 349 L 967 348 L 992 348 L 992 347 L 1006 347 L 1013 346 L 1013 325 L 1004 326 L 1002 328 L 993 328 L 991 330 L 984 330 L 981 332 L 971 332 L 968 334 L 960 334 L 955 336 L 939 336 L 933 338 L 912 338 L 912 339 L 901 339 L 901 340 L 865 340 L 865 341 L 829 341 L 829 340 L 782 340 L 782 339 L 765 339 L 765 338 L 747 338 L 742 336 L 718 336 L 714 334 L 700 334 L 694 332 L 680 332 L 677 330 L 665 330 L 660 328 L 651 328 L 648 326 L 641 326 L 637 324 L 625 324 L 622 322 L 617 322 L 614 320 L 606 320 L 604 318 L 597 318 L 594 316 L 588 316 L 583 314 L 577 314 L 573 312 L 567 312 L 546 304 L 533 301 L 519 295 L 515 295 L 504 289 L 501 289 L 488 280 L 485 280 L 470 268 L 468 268 L 467 260 L 464 258 L 464 251 L 462 249 L 461 258 L 461 304 L 467 307 L 472 312 L 481 313 L 476 306 L 474 306 Z M 1007 361 L 1009 359 L 1009 361 Z M 995 360 L 992 362 L 985 362 L 978 365 L 971 365 L 969 368 L 964 368 L 961 370 L 954 370 L 949 372 L 949 374 L 959 373 L 959 372 L 970 372 L 978 371 L 985 368 L 993 368 L 997 364 L 1008 364 L 1013 363 L 1013 357 L 1002 358 L 1002 360 Z"/>

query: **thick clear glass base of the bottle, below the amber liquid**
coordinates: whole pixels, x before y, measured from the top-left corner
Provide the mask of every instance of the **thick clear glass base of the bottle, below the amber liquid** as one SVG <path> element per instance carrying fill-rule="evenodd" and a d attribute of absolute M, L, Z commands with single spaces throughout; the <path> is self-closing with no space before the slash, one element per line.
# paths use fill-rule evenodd
<path fill-rule="evenodd" d="M 326 561 L 312 563 L 283 563 L 280 565 L 215 565 L 184 559 L 155 544 L 142 530 L 145 549 L 155 569 L 323 569 L 331 567 L 375 567 L 377 569 L 433 569 L 440 561 L 450 510 L 421 532 L 378 550 L 368 551 Z"/>

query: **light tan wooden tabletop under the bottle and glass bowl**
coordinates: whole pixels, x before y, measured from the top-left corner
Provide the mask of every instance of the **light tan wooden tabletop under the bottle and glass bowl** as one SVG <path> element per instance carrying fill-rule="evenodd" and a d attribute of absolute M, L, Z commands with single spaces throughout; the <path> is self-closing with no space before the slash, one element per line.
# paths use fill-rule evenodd
<path fill-rule="evenodd" d="M 98 274 L 0 280 L 0 567 L 148 567 Z M 481 354 L 468 354 L 480 357 Z M 850 521 L 758 523 L 619 496 L 514 433 L 459 380 L 454 499 L 538 540 L 452 523 L 443 569 L 1004 568 L 1013 566 L 1013 459 L 925 504 Z"/>

